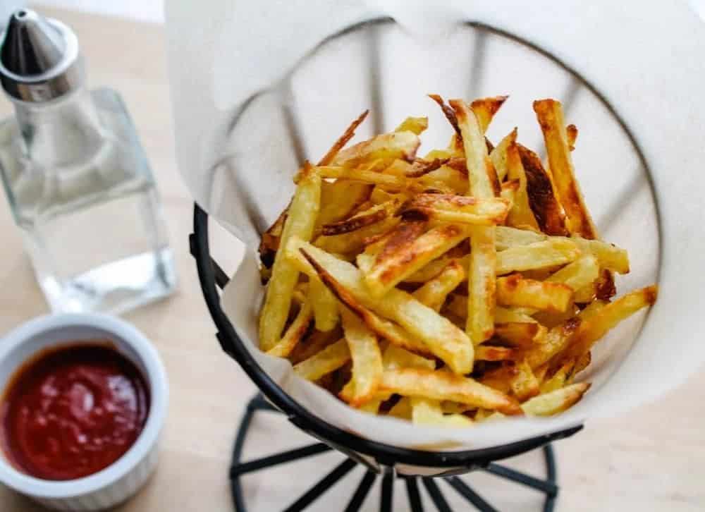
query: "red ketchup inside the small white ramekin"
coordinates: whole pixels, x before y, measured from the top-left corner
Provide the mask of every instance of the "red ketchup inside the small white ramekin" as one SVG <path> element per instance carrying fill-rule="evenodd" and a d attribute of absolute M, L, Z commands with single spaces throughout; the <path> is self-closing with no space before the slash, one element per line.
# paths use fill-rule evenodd
<path fill-rule="evenodd" d="M 148 412 L 145 378 L 109 342 L 52 348 L 10 380 L 0 403 L 0 441 L 18 470 L 73 480 L 128 451 Z"/>

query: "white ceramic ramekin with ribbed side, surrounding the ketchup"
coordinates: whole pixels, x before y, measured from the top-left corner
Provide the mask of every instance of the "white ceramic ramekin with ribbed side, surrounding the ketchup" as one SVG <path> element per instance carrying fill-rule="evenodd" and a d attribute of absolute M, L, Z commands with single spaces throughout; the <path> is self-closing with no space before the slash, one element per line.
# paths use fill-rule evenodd
<path fill-rule="evenodd" d="M 159 434 L 166 420 L 168 383 L 159 354 L 140 331 L 121 319 L 95 314 L 47 315 L 23 324 L 0 339 L 0 390 L 23 362 L 44 348 L 109 339 L 137 365 L 149 386 L 149 415 L 135 444 L 104 470 L 76 480 L 51 481 L 20 473 L 0 456 L 0 482 L 62 511 L 97 511 L 125 501 L 147 481 L 157 465 Z"/>

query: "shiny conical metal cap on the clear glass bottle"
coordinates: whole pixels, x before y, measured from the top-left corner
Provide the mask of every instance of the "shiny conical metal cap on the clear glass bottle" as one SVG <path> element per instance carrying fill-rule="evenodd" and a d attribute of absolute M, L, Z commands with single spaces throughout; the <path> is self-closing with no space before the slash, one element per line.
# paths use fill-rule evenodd
<path fill-rule="evenodd" d="M 80 87 L 82 71 L 70 28 L 30 9 L 11 14 L 0 42 L 0 83 L 8 95 L 46 102 Z"/>

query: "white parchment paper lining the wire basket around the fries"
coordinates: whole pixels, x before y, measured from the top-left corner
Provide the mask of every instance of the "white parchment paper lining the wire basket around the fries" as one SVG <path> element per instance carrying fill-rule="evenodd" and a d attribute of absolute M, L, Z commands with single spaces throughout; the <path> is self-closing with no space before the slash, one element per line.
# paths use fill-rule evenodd
<path fill-rule="evenodd" d="M 479 449 L 505 444 L 590 417 L 623 413 L 678 386 L 705 359 L 705 315 L 699 306 L 704 284 L 699 269 L 705 253 L 705 25 L 685 2 L 425 4 L 211 0 L 206 5 L 167 0 L 180 171 L 195 200 L 247 245 L 243 263 L 223 295 L 223 309 L 238 334 L 271 377 L 321 418 L 398 446 L 450 443 L 453 448 Z M 289 75 L 291 80 L 281 81 L 321 39 L 379 16 L 390 16 L 401 27 L 377 33 L 376 44 L 399 47 L 407 54 L 373 55 L 367 43 L 343 38 L 302 63 Z M 472 429 L 424 428 L 352 410 L 293 375 L 288 362 L 259 352 L 256 317 L 262 287 L 255 248 L 258 233 L 290 198 L 298 159 L 317 159 L 350 119 L 374 102 L 369 83 L 382 79 L 370 71 L 370 59 L 379 59 L 386 75 L 377 92 L 384 111 L 377 118 L 373 113 L 372 123 L 360 130 L 362 137 L 375 128 L 393 128 L 400 113 L 433 112 L 431 105 L 422 103 L 419 91 L 450 97 L 508 93 L 520 99 L 517 105 L 523 110 L 508 102 L 501 114 L 510 110 L 504 121 L 498 114 L 491 138 L 492 130 L 501 136 L 515 124 L 520 130 L 535 124 L 531 99 L 573 95 L 574 82 L 551 71 L 544 57 L 510 42 L 470 40 L 467 31 L 458 29 L 458 23 L 467 21 L 490 25 L 549 51 L 587 78 L 623 119 L 648 171 L 593 93 L 578 94 L 568 111 L 581 130 L 575 159 L 587 202 L 606 238 L 630 251 L 632 273 L 618 281 L 618 289 L 658 279 L 661 294 L 648 317 L 645 312 L 637 315 L 600 344 L 594 366 L 583 377 L 594 386 L 568 412 Z M 494 59 L 489 68 L 484 66 L 482 77 L 477 73 L 481 55 Z M 432 125 L 434 121 L 443 126 L 440 114 L 431 114 Z M 292 123 L 302 134 L 295 143 L 290 140 Z M 447 135 L 429 135 L 431 145 L 447 140 Z M 539 147 L 536 128 L 520 131 L 522 137 Z"/>

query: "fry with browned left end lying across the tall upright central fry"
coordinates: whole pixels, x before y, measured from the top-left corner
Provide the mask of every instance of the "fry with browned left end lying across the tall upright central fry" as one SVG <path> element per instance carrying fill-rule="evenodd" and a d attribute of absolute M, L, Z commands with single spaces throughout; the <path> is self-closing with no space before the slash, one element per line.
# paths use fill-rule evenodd
<path fill-rule="evenodd" d="M 403 206 L 401 213 L 409 218 L 494 226 L 504 222 L 508 209 L 508 200 L 500 197 L 481 200 L 453 194 L 419 194 Z"/>

